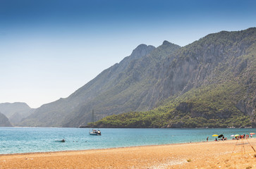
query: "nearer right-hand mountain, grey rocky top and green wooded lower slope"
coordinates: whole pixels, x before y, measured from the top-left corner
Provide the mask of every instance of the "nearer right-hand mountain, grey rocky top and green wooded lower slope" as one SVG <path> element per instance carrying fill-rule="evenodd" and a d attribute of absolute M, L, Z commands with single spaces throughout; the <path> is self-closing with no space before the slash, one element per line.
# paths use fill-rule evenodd
<path fill-rule="evenodd" d="M 95 125 L 256 127 L 255 27 L 207 35 L 164 60 L 155 94 L 169 99 L 152 111 L 111 115 Z"/>

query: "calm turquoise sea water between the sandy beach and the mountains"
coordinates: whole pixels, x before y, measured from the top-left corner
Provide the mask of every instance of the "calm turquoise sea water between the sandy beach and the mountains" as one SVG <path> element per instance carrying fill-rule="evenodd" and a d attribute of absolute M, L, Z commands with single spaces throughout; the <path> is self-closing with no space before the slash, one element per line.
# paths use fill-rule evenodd
<path fill-rule="evenodd" d="M 256 129 L 101 129 L 102 136 L 86 128 L 0 127 L 0 154 L 106 149 L 124 146 L 213 141 L 212 134 L 248 134 Z M 56 140 L 66 139 L 66 142 Z"/>

